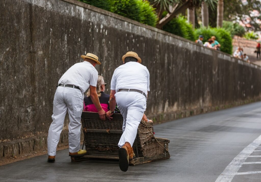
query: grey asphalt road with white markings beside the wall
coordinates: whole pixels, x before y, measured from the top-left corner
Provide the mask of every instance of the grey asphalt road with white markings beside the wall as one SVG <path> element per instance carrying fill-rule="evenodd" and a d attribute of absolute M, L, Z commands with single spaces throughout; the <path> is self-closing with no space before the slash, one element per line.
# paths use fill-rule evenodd
<path fill-rule="evenodd" d="M 122 172 L 117 161 L 71 162 L 65 149 L 55 163 L 42 155 L 0 166 L 0 181 L 261 181 L 261 102 L 154 127 L 170 139 L 170 159 Z"/>

